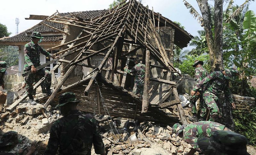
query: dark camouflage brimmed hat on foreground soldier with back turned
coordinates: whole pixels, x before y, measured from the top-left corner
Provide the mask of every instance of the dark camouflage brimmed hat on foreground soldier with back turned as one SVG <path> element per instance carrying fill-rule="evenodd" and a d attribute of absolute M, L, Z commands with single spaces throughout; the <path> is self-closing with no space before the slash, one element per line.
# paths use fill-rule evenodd
<path fill-rule="evenodd" d="M 75 93 L 73 93 L 73 92 L 65 92 L 65 93 L 60 95 L 59 104 L 55 108 L 64 106 L 64 105 L 66 105 L 68 103 L 72 104 L 72 103 L 79 103 L 79 102 L 81 102 L 81 101 L 76 99 Z"/>

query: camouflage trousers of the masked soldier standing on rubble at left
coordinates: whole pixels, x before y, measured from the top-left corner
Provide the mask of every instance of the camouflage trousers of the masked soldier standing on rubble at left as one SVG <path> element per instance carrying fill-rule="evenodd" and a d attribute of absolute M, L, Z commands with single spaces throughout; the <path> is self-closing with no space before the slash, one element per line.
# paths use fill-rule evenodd
<path fill-rule="evenodd" d="M 27 72 L 27 70 L 24 70 L 24 72 Z M 50 92 L 50 87 L 52 85 L 52 75 L 51 73 L 46 70 L 45 68 L 42 68 L 40 70 L 36 70 L 36 73 L 29 74 L 25 77 L 25 81 L 27 83 L 26 85 L 26 91 L 28 92 L 29 99 L 33 99 L 33 85 L 35 82 L 38 82 L 41 78 L 46 77 L 46 80 L 41 84 L 42 90 L 43 87 L 46 88 L 46 92 Z"/>

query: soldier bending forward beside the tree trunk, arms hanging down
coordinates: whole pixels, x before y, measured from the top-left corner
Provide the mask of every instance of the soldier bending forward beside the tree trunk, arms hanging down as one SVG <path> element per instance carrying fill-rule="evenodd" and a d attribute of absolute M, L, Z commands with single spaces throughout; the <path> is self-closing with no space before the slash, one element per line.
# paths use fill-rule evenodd
<path fill-rule="evenodd" d="M 232 105 L 233 108 L 236 107 L 235 103 L 231 98 L 231 94 L 228 87 L 228 79 L 236 77 L 239 75 L 236 68 L 225 69 L 223 71 L 214 71 L 206 78 L 204 78 L 195 88 L 191 91 L 193 96 L 196 91 L 202 88 L 204 85 L 207 85 L 204 91 L 204 101 L 207 108 L 210 111 L 209 121 L 218 122 L 221 118 L 220 112 L 220 103 L 218 97 L 221 91 L 224 91 L 226 101 Z"/>

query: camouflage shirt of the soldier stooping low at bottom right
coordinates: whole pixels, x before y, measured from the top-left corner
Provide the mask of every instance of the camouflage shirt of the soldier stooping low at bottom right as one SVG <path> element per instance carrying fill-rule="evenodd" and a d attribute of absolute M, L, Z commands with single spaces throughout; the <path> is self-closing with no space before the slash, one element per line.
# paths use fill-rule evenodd
<path fill-rule="evenodd" d="M 200 121 L 187 124 L 183 128 L 183 138 L 194 149 L 200 150 L 197 144 L 197 138 L 201 136 L 210 137 L 213 131 L 224 130 L 225 126 L 211 121 Z"/>

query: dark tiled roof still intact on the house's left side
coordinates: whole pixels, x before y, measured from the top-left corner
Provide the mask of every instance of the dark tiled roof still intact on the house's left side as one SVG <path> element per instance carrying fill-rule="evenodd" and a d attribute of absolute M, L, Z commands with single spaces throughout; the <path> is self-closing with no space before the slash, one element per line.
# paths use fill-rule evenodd
<path fill-rule="evenodd" d="M 79 12 L 67 12 L 67 13 L 60 13 L 60 16 L 68 16 L 73 18 L 73 15 L 77 16 L 78 18 L 82 19 L 90 19 L 90 18 L 96 18 L 99 17 L 100 15 L 104 14 L 107 10 L 92 10 L 92 11 L 79 11 Z M 72 14 L 72 15 L 71 15 Z M 52 27 L 55 27 L 59 30 L 64 31 L 64 25 L 60 23 L 53 23 L 49 21 L 44 21 L 45 24 L 50 25 Z M 44 26 L 42 24 L 37 24 L 36 26 L 33 26 L 32 28 L 23 31 L 15 36 L 12 36 L 7 39 L 0 40 L 1 42 L 29 42 L 31 38 L 29 36 L 26 36 L 26 33 L 28 32 L 34 32 L 38 31 L 40 33 L 43 32 L 58 32 L 57 30 L 54 30 L 48 26 Z M 54 35 L 54 36 L 44 36 L 42 41 L 61 41 L 62 40 L 62 35 Z"/>

